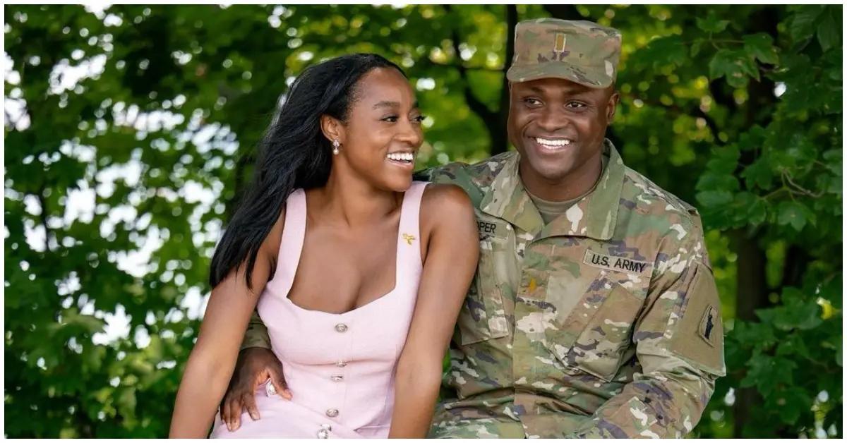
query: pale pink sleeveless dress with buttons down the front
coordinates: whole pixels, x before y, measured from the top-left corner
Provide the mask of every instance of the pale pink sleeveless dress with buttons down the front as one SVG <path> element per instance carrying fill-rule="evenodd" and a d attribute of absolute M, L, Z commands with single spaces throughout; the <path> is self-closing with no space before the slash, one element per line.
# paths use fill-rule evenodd
<path fill-rule="evenodd" d="M 293 399 L 268 396 L 263 387 L 256 394 L 262 418 L 253 421 L 242 413 L 241 428 L 230 432 L 218 415 L 212 438 L 388 436 L 396 363 L 423 269 L 418 211 L 425 187 L 424 182 L 412 182 L 403 197 L 395 288 L 341 314 L 310 311 L 288 299 L 306 232 L 306 194 L 302 189 L 291 193 L 277 269 L 257 309 Z"/>

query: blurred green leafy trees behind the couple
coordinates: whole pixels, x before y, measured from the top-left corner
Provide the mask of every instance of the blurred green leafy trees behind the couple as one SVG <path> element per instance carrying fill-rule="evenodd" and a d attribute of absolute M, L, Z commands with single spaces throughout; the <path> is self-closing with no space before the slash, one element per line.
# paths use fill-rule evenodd
<path fill-rule="evenodd" d="M 693 435 L 840 437 L 842 6 L 5 6 L 8 437 L 163 437 L 213 247 L 295 76 L 407 70 L 418 169 L 510 147 L 518 20 L 623 32 L 608 137 L 700 208 L 728 376 Z"/>

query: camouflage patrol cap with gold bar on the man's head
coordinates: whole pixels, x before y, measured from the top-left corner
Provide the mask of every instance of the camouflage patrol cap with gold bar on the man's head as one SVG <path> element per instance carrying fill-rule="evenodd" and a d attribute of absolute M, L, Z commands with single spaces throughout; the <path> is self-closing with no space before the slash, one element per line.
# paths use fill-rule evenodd
<path fill-rule="evenodd" d="M 605 88 L 617 77 L 621 33 L 586 20 L 532 19 L 515 26 L 509 81 L 556 77 Z"/>

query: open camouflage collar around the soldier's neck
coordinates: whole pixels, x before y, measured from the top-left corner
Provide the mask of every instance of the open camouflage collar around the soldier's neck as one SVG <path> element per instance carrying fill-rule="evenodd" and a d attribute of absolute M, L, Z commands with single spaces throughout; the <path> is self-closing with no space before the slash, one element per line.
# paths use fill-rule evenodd
<path fill-rule="evenodd" d="M 479 208 L 504 219 L 536 240 L 558 235 L 590 237 L 600 241 L 612 238 L 617 221 L 617 208 L 623 188 L 624 165 L 612 141 L 603 142 L 603 155 L 609 157 L 606 169 L 594 191 L 576 202 L 567 213 L 545 225 L 518 174 L 520 156 L 509 156 L 495 175 Z"/>

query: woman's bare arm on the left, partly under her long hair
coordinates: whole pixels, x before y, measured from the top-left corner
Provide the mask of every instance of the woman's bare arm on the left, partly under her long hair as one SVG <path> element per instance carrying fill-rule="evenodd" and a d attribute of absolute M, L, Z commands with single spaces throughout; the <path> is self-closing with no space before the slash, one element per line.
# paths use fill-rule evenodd
<path fill-rule="evenodd" d="M 258 296 L 268 282 L 278 253 L 281 220 L 263 241 L 252 270 L 252 291 L 246 284 L 246 263 L 215 286 L 203 315 L 197 343 L 191 350 L 176 394 L 171 438 L 206 438 L 215 410 L 230 384 L 235 359 Z"/>

